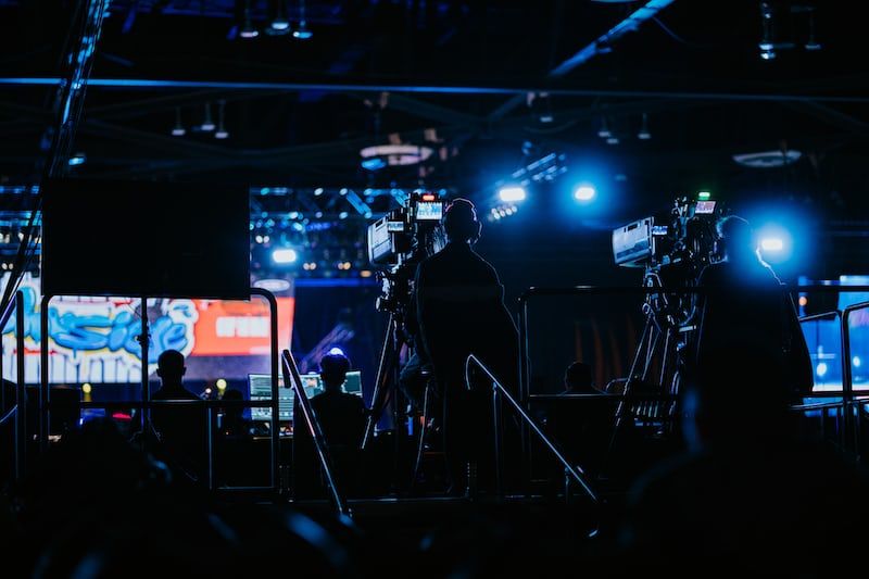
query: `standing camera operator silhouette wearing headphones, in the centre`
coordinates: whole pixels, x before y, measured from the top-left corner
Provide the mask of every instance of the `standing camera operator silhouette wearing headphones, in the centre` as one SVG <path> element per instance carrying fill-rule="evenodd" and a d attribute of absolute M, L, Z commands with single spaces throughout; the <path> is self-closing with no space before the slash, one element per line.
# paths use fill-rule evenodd
<path fill-rule="evenodd" d="M 448 243 L 419 264 L 415 291 L 420 342 L 443 405 L 450 491 L 458 493 L 468 482 L 466 465 L 491 457 L 481 445 L 491 441 L 482 426 L 491 419 L 489 391 L 482 386 L 468 391 L 466 361 L 476 354 L 515 391 L 518 335 L 504 306 L 498 273 L 471 248 L 481 231 L 474 204 L 453 201 L 444 212 L 443 228 Z"/>

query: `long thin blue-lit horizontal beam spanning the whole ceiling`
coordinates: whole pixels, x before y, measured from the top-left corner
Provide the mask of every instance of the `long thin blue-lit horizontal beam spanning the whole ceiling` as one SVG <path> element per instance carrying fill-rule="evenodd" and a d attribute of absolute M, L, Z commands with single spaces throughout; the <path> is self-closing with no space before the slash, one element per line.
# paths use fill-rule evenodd
<path fill-rule="evenodd" d="M 0 77 L 0 86 L 58 86 L 59 77 Z M 91 78 L 90 88 L 126 89 L 217 89 L 217 90 L 278 90 L 326 92 L 405 92 L 419 95 L 526 95 L 528 92 L 549 92 L 565 97 L 612 97 L 650 98 L 706 101 L 741 102 L 869 102 L 869 97 L 837 95 L 773 95 L 758 92 L 680 92 L 666 90 L 610 90 L 543 87 L 474 87 L 474 86 L 432 86 L 432 85 L 348 85 L 313 83 L 236 83 L 228 80 L 171 80 L 154 78 Z"/>

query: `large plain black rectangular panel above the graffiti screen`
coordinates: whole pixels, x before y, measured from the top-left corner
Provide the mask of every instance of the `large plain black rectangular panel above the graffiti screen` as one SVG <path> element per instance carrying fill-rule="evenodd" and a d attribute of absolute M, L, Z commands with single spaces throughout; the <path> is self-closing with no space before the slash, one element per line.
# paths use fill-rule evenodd
<path fill-rule="evenodd" d="M 247 188 L 63 179 L 42 194 L 43 294 L 250 297 Z"/>

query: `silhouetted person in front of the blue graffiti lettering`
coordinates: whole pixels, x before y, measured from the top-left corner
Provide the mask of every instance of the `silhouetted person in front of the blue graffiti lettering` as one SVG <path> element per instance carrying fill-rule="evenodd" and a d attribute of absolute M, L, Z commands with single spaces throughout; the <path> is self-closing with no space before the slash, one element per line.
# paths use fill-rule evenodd
<path fill-rule="evenodd" d="M 194 400 L 200 398 L 184 387 L 187 372 L 184 354 L 166 350 L 158 358 L 156 375 L 161 387 L 153 401 Z M 151 421 L 161 441 L 165 458 L 193 478 L 200 479 L 206 464 L 206 418 L 202 404 L 164 405 L 151 408 Z"/>

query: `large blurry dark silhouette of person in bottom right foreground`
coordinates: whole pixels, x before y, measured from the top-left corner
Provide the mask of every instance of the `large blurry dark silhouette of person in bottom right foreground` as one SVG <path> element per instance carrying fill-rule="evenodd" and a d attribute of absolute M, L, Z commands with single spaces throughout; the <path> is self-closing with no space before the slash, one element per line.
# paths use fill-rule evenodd
<path fill-rule="evenodd" d="M 635 486 L 620 537 L 631 556 L 616 558 L 653 575 L 695 576 L 703 562 L 733 576 L 816 577 L 843 564 L 830 553 L 862 543 L 866 475 L 803 433 L 770 356 L 744 337 L 684 385 L 689 450 Z"/>

